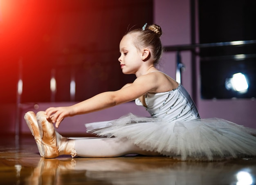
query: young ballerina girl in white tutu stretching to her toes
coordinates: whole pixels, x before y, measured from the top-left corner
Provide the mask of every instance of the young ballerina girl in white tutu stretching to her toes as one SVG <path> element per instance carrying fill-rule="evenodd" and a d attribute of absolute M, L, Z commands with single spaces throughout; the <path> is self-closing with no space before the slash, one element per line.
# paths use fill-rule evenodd
<path fill-rule="evenodd" d="M 162 55 L 160 26 L 129 31 L 120 42 L 120 67 L 137 79 L 113 92 L 105 92 L 68 107 L 27 112 L 29 126 L 40 155 L 115 157 L 125 154 L 165 155 L 181 160 L 213 160 L 215 157 L 256 155 L 256 137 L 249 129 L 223 119 L 200 119 L 184 87 L 155 68 Z M 135 100 L 151 117 L 131 113 L 117 120 L 85 124 L 93 139 L 68 139 L 55 131 L 68 116 L 87 114 Z"/>

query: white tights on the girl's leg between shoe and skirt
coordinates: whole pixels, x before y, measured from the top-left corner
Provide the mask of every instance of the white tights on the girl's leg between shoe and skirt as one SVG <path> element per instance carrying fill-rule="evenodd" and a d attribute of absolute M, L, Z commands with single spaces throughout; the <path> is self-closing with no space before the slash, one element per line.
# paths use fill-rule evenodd
<path fill-rule="evenodd" d="M 142 150 L 128 139 L 116 137 L 75 139 L 74 149 L 77 156 L 81 157 L 117 157 L 126 154 L 160 155 L 157 152 Z"/>

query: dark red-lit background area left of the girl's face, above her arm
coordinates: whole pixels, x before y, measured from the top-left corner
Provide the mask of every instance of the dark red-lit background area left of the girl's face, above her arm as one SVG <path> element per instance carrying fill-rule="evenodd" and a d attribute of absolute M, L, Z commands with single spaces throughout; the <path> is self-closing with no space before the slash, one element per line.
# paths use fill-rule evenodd
<path fill-rule="evenodd" d="M 19 75 L 21 102 L 82 101 L 121 88 L 135 76 L 121 72 L 119 42 L 132 27 L 152 21 L 152 0 L 1 1 L 0 103 L 16 102 Z"/>

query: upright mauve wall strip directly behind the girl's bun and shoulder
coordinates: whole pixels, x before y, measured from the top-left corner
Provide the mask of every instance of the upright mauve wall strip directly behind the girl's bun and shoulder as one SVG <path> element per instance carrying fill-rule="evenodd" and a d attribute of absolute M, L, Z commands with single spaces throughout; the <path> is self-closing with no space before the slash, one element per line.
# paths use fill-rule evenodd
<path fill-rule="evenodd" d="M 190 44 L 190 15 L 189 0 L 155 0 L 154 22 L 162 28 L 162 44 L 164 46 Z M 164 53 L 160 70 L 175 79 L 176 54 L 174 52 Z M 182 74 L 183 86 L 191 93 L 191 66 L 189 51 L 181 53 L 182 63 L 185 71 Z"/>

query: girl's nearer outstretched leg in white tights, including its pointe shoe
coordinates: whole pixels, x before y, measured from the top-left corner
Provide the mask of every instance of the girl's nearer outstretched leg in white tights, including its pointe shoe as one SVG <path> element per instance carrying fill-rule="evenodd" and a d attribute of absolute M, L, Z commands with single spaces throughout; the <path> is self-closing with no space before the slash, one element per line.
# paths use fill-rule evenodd
<path fill-rule="evenodd" d="M 46 119 L 44 112 L 38 112 L 36 117 L 44 158 L 55 158 L 62 154 L 72 155 L 72 157 L 116 157 L 125 154 L 159 155 L 157 152 L 142 150 L 125 138 L 67 139 L 55 131 L 52 122 Z"/>

